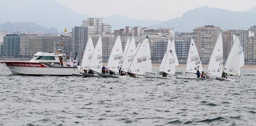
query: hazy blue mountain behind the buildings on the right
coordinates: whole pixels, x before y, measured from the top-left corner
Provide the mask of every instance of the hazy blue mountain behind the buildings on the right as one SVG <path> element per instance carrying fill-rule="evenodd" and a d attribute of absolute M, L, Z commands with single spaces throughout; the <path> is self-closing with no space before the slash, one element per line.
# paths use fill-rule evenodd
<path fill-rule="evenodd" d="M 192 32 L 196 27 L 214 25 L 222 29 L 248 29 L 256 25 L 256 7 L 245 12 L 233 12 L 207 6 L 195 8 L 182 17 L 164 21 L 151 28 L 172 27 L 178 32 Z"/>

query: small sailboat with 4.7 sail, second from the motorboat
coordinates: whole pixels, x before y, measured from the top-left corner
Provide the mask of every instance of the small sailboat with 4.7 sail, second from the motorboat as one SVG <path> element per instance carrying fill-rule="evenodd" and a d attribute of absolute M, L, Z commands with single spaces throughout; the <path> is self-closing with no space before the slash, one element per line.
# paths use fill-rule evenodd
<path fill-rule="evenodd" d="M 89 63 L 89 70 L 87 70 L 86 73 L 82 73 L 83 77 L 97 76 L 97 73 L 101 73 L 101 66 L 102 66 L 102 42 L 101 42 L 101 36 L 100 36 L 95 46 L 95 49 L 93 51 L 91 61 Z"/>

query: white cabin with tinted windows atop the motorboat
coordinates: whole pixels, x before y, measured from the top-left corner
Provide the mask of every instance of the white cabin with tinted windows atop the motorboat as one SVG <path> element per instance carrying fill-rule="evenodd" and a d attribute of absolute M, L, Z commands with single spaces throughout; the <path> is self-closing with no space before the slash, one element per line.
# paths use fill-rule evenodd
<path fill-rule="evenodd" d="M 53 66 L 64 66 L 63 56 L 65 56 L 65 54 L 37 52 L 34 55 L 34 58 L 29 62 L 49 63 Z"/>

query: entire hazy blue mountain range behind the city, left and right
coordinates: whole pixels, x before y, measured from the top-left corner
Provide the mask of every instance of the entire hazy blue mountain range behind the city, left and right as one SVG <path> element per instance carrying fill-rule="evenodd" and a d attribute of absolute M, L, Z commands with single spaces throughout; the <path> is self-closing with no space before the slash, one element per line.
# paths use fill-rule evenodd
<path fill-rule="evenodd" d="M 15 32 L 42 30 L 42 32 L 52 33 L 56 29 L 58 32 L 64 32 L 64 28 L 67 32 L 71 32 L 72 27 L 80 26 L 83 20 L 91 16 L 76 13 L 55 0 L 5 0 L 1 1 L 0 17 L 0 31 L 10 32 L 7 26 L 13 26 L 19 27 L 19 29 L 12 28 Z M 138 20 L 123 15 L 99 18 L 103 19 L 103 23 L 110 24 L 112 31 L 125 26 L 156 29 L 171 27 L 177 32 L 192 32 L 196 27 L 204 25 L 214 25 L 222 29 L 247 29 L 256 25 L 256 7 L 244 12 L 233 12 L 203 6 L 168 21 Z M 23 31 L 19 31 L 21 29 Z"/>

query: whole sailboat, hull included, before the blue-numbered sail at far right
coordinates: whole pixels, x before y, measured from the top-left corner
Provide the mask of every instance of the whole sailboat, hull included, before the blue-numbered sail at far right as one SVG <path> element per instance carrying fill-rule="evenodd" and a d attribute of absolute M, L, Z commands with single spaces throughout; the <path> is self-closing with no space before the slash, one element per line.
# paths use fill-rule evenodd
<path fill-rule="evenodd" d="M 232 78 L 230 78 L 230 76 L 240 76 L 240 65 L 239 65 L 239 61 L 240 61 L 240 53 L 239 53 L 239 39 L 238 37 L 236 37 L 234 39 L 234 43 L 233 46 L 228 54 L 227 57 L 227 61 L 223 70 L 223 77 L 216 77 L 217 80 L 220 81 L 235 81 Z M 229 76 L 225 76 L 224 75 L 229 75 Z M 229 77 L 229 78 L 227 78 Z"/>

